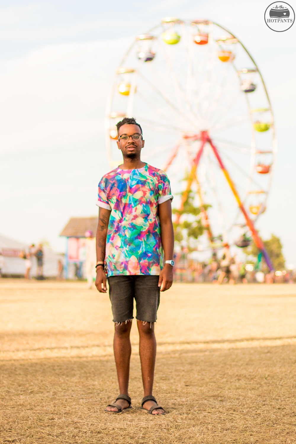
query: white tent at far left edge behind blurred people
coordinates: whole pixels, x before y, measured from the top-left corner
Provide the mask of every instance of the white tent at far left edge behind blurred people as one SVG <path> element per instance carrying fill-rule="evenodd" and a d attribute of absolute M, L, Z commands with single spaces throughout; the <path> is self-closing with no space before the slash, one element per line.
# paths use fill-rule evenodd
<path fill-rule="evenodd" d="M 1 273 L 4 277 L 24 277 L 26 266 L 21 258 L 24 251 L 28 251 L 29 246 L 24 242 L 7 238 L 0 235 L 0 252 L 3 256 L 4 266 Z M 63 254 L 51 251 L 47 246 L 43 246 L 43 276 L 56 277 L 58 273 L 58 261 L 64 262 Z M 31 277 L 36 276 L 36 258 L 32 258 Z"/>

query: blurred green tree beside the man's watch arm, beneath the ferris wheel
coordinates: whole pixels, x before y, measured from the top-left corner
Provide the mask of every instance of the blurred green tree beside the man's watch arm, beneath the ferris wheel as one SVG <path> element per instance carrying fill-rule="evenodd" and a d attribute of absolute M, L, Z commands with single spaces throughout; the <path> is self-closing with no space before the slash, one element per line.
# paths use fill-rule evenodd
<path fill-rule="evenodd" d="M 194 197 L 190 190 L 184 202 L 183 210 L 173 209 L 174 214 L 183 216 L 182 222 L 173 224 L 175 241 L 182 249 L 187 248 L 189 252 L 197 249 L 196 240 L 206 230 L 201 222 L 201 212 L 209 207 L 209 205 L 196 206 Z"/>

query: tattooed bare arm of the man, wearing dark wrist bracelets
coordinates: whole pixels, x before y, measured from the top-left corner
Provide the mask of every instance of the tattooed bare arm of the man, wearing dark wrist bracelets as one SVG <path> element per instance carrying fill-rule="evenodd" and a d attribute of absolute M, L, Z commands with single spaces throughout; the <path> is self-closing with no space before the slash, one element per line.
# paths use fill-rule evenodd
<path fill-rule="evenodd" d="M 105 208 L 99 207 L 99 223 L 96 234 L 96 251 L 97 251 L 97 262 L 105 261 L 106 254 L 106 240 L 107 240 L 107 231 L 108 231 L 108 223 L 110 217 L 111 210 L 106 210 Z M 99 290 L 100 293 L 107 292 L 106 281 L 107 277 L 104 271 L 104 266 L 99 266 L 97 268 L 97 277 L 95 279 L 95 286 Z M 103 287 L 102 287 L 103 284 Z"/>

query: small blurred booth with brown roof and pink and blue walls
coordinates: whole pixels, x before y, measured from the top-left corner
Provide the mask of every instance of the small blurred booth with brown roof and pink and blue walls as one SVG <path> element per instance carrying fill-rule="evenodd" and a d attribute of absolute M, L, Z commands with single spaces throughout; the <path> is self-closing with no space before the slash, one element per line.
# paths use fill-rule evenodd
<path fill-rule="evenodd" d="M 81 278 L 85 275 L 84 263 L 87 258 L 87 236 L 95 237 L 98 216 L 71 218 L 60 236 L 67 239 L 65 254 L 65 278 Z"/>

